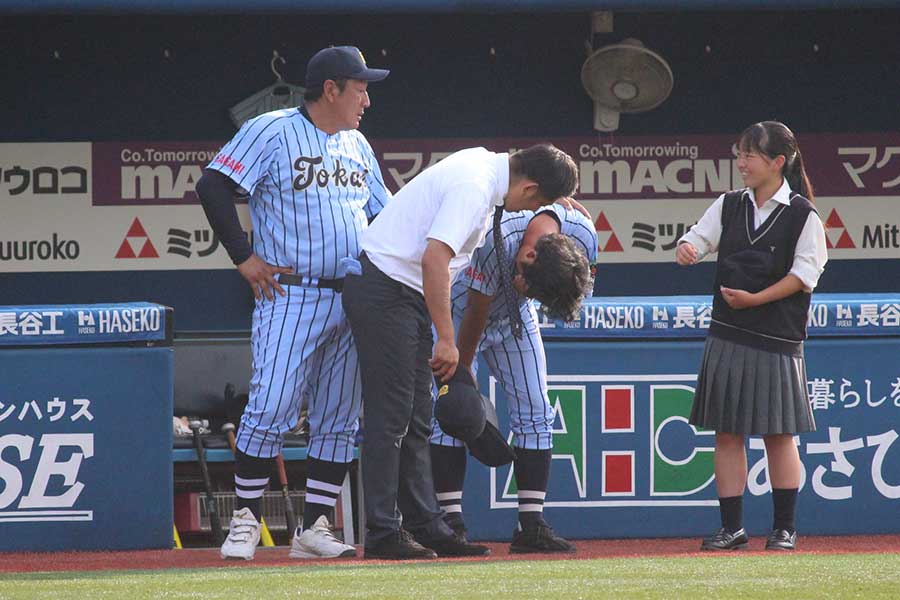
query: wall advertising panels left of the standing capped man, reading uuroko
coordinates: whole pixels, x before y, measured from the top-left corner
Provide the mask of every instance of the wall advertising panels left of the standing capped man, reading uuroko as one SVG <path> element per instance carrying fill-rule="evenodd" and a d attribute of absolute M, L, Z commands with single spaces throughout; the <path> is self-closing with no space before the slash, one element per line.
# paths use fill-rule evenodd
<path fill-rule="evenodd" d="M 171 146 L 0 144 L 0 272 L 234 268 L 193 191 L 216 145 Z"/>

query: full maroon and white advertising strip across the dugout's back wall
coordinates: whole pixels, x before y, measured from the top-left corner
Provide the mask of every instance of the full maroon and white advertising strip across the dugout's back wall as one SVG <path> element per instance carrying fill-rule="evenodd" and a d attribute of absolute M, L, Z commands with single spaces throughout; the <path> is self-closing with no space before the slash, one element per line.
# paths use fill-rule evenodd
<path fill-rule="evenodd" d="M 730 135 L 372 140 L 385 181 L 470 146 L 550 141 L 578 164 L 600 262 L 671 262 L 678 238 L 743 186 Z M 830 260 L 897 258 L 895 135 L 800 135 Z M 0 272 L 229 269 L 194 187 L 224 142 L 0 144 Z M 246 231 L 246 199 L 238 200 Z M 710 259 L 707 259 L 710 260 Z"/>

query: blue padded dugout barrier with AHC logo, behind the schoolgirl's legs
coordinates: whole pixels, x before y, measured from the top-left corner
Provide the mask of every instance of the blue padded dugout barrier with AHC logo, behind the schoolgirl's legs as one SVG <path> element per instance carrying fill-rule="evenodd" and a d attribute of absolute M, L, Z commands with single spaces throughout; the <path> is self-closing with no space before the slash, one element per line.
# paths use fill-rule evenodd
<path fill-rule="evenodd" d="M 860 326 L 861 335 L 848 330 L 805 343 L 817 430 L 795 436 L 803 462 L 801 534 L 900 532 L 900 333 L 868 336 L 867 327 Z M 703 340 L 633 331 L 575 341 L 542 333 L 556 411 L 544 512 L 556 531 L 577 539 L 717 529 L 715 434 L 688 423 Z M 479 384 L 496 403 L 501 431 L 509 432 L 508 399 L 483 363 Z M 760 535 L 772 518 L 762 438 L 747 440 L 747 457 L 744 520 Z M 517 507 L 512 469 L 470 463 L 463 497 L 470 532 L 509 539 Z"/>

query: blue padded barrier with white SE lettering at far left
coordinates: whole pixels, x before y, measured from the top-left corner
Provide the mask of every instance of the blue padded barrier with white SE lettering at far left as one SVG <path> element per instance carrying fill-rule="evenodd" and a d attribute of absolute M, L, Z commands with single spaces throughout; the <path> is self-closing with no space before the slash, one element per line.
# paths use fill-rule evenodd
<path fill-rule="evenodd" d="M 165 307 L 32 308 L 58 333 L 28 347 L 0 337 L 0 551 L 171 548 L 171 338 L 106 345 L 146 345 L 149 332 L 122 323 Z M 97 331 L 80 332 L 80 317 Z"/>

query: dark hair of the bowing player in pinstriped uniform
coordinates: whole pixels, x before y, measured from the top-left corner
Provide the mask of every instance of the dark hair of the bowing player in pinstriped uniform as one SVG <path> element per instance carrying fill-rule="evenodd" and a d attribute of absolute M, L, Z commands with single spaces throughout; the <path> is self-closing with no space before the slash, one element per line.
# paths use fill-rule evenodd
<path fill-rule="evenodd" d="M 540 302 L 542 310 L 554 319 L 576 319 L 581 302 L 594 291 L 587 257 L 561 233 L 542 236 L 534 250 L 534 262 L 522 267 L 526 295 Z"/>

